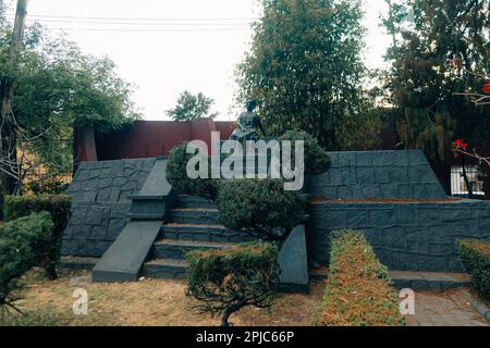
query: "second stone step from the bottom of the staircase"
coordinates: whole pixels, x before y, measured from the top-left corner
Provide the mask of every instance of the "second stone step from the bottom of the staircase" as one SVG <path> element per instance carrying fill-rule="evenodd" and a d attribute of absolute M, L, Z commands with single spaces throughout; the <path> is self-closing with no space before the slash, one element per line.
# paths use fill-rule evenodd
<path fill-rule="evenodd" d="M 152 259 L 185 260 L 186 253 L 192 250 L 218 250 L 230 248 L 234 244 L 161 239 L 154 244 Z"/>

